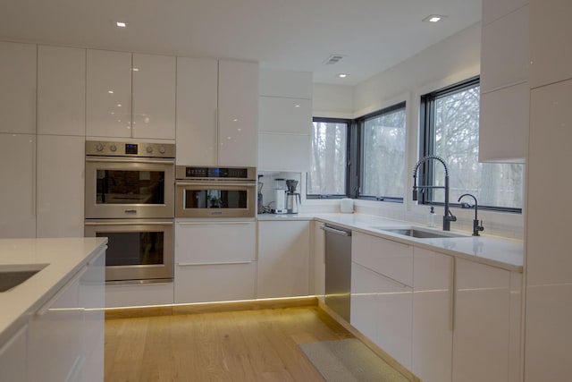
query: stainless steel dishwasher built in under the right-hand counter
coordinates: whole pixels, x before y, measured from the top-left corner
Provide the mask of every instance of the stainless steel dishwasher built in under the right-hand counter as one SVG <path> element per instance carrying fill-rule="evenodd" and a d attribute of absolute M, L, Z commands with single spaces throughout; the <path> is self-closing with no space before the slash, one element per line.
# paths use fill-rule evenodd
<path fill-rule="evenodd" d="M 325 231 L 325 304 L 349 322 L 351 231 L 323 225 Z"/>

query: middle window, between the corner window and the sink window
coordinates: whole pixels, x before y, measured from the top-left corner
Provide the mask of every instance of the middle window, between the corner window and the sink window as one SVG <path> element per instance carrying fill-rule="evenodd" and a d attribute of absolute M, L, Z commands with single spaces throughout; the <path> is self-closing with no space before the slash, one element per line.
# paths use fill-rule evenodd
<path fill-rule="evenodd" d="M 361 135 L 359 197 L 403 201 L 406 176 L 405 102 L 358 121 Z"/>

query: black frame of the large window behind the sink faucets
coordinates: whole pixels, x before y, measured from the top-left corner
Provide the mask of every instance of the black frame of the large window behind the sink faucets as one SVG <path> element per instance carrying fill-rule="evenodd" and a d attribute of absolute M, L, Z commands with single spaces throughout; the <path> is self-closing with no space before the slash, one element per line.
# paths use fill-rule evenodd
<path fill-rule="evenodd" d="M 441 89 L 433 90 L 430 93 L 426 93 L 420 97 L 420 109 L 419 109 L 419 158 L 432 155 L 435 148 L 435 126 L 434 126 L 434 103 L 437 99 L 446 97 L 450 94 L 457 93 L 464 89 L 469 89 L 475 87 L 475 85 L 480 86 L 480 76 L 475 76 L 468 78 L 464 81 L 458 81 L 454 84 L 446 86 Z M 480 103 L 480 100 L 479 100 Z M 425 163 L 423 166 L 419 167 L 419 172 L 417 174 L 417 180 L 419 184 L 433 184 L 433 166 L 427 166 Z M 443 206 L 442 201 L 433 201 L 433 190 L 428 189 L 425 192 L 420 193 L 420 198 L 418 203 L 421 205 L 434 205 Z M 456 200 L 450 200 L 450 207 L 460 208 L 461 204 Z M 499 207 L 499 206 L 487 206 L 479 203 L 479 209 L 496 211 L 496 212 L 509 212 L 522 214 L 522 208 L 509 208 L 509 207 Z"/>

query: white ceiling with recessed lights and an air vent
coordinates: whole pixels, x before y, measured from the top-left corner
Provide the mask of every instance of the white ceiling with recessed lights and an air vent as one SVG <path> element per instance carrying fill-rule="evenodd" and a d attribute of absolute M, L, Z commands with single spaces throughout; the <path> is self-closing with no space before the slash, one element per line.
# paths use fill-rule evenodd
<path fill-rule="evenodd" d="M 354 85 L 481 20 L 481 0 L 2 0 L 0 39 L 258 61 Z M 448 17 L 422 22 L 431 13 Z M 127 21 L 118 29 L 115 21 Z M 324 65 L 329 55 L 340 63 Z M 349 73 L 346 80 L 336 78 Z"/>

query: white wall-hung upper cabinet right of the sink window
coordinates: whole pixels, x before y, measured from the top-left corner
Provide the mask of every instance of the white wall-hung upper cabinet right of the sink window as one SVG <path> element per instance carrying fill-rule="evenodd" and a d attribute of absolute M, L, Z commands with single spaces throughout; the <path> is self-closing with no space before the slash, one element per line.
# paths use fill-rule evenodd
<path fill-rule="evenodd" d="M 522 163 L 528 146 L 529 5 L 483 1 L 479 161 Z"/>

